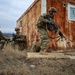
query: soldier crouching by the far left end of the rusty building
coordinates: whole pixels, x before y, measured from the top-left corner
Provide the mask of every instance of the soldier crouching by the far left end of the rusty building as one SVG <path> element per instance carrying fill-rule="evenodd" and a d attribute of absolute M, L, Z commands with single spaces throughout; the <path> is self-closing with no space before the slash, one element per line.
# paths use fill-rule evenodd
<path fill-rule="evenodd" d="M 19 50 L 27 49 L 26 36 L 23 36 L 20 33 L 19 28 L 15 28 L 16 34 L 13 34 L 14 46 L 17 44 L 19 46 Z"/>

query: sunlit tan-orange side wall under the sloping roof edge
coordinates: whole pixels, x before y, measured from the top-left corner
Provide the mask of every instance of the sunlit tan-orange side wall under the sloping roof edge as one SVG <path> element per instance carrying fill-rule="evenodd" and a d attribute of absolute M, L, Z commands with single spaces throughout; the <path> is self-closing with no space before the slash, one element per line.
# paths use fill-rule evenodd
<path fill-rule="evenodd" d="M 41 1 L 36 0 L 32 6 L 23 14 L 23 16 L 17 21 L 18 25 L 22 19 L 22 33 L 27 36 L 28 46 L 30 46 L 33 41 L 36 41 L 37 30 L 36 22 L 41 14 Z"/>

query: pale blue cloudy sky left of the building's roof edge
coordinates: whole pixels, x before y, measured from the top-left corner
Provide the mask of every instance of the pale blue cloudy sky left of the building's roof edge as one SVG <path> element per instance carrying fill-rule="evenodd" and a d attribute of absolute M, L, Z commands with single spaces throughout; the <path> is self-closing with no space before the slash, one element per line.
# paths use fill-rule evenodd
<path fill-rule="evenodd" d="M 0 30 L 14 33 L 17 19 L 28 9 L 34 0 L 0 0 Z"/>

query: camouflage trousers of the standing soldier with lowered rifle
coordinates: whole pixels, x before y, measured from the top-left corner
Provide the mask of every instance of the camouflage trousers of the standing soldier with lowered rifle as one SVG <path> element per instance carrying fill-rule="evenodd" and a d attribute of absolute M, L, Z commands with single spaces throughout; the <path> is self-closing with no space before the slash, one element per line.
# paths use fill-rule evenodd
<path fill-rule="evenodd" d="M 41 47 L 41 50 L 45 50 L 50 41 L 50 37 L 45 29 L 43 28 L 37 28 L 37 29 L 41 39 L 39 42 L 37 42 L 37 46 Z"/>

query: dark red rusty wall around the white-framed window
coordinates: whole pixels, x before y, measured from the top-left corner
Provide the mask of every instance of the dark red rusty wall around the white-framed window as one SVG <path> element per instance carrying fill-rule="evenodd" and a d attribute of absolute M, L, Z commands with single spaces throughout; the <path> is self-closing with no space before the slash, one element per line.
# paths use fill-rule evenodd
<path fill-rule="evenodd" d="M 51 39 L 50 46 L 54 49 L 75 48 L 75 39 L 74 39 L 75 21 L 68 20 L 68 9 L 67 9 L 68 3 L 75 5 L 74 0 L 47 0 L 47 12 L 50 7 L 56 7 L 58 12 L 54 20 L 56 24 L 60 26 L 61 32 L 63 32 L 63 34 L 66 37 L 66 40 L 64 40 L 63 42 L 61 40 L 55 42 L 54 40 Z M 64 4 L 66 4 L 65 7 Z M 51 36 L 57 35 L 51 34 Z"/>

